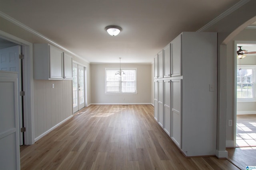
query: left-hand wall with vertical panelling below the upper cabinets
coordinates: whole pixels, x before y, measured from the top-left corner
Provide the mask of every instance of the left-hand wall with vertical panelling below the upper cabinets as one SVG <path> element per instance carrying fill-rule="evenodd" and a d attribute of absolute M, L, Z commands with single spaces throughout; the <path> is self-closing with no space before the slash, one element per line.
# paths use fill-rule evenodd
<path fill-rule="evenodd" d="M 22 29 L 0 17 L 0 30 L 30 43 L 49 43 L 48 41 Z M 52 44 L 53 45 L 53 44 Z M 86 66 L 87 102 L 91 103 L 90 64 L 74 55 L 73 60 Z M 33 68 L 31 68 L 33 70 Z M 52 89 L 54 83 L 54 89 Z M 71 80 L 33 80 L 34 87 L 34 139 L 37 140 L 44 133 L 58 123 L 70 117 L 72 111 L 72 81 Z M 25 92 L 26 93 L 26 92 Z M 26 96 L 25 96 L 26 97 Z M 32 131 L 31 129 L 26 129 Z"/>

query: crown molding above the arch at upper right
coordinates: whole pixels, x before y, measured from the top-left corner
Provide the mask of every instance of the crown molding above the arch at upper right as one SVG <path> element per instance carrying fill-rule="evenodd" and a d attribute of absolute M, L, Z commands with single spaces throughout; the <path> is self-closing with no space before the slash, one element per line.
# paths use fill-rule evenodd
<path fill-rule="evenodd" d="M 202 28 L 198 29 L 196 32 L 202 32 L 202 31 L 208 29 L 209 27 L 211 27 L 218 21 L 222 20 L 223 18 L 225 18 L 226 16 L 228 16 L 229 14 L 231 14 L 232 12 L 234 12 L 235 10 L 237 10 L 238 8 L 240 8 L 241 6 L 243 6 L 244 4 L 246 4 L 249 1 L 250 0 L 240 0 L 237 4 L 235 4 L 234 6 L 232 6 L 231 8 L 229 8 L 228 10 L 226 10 L 225 12 L 220 14 L 218 17 L 214 18 L 212 21 L 210 21 L 209 23 L 204 25 Z"/>

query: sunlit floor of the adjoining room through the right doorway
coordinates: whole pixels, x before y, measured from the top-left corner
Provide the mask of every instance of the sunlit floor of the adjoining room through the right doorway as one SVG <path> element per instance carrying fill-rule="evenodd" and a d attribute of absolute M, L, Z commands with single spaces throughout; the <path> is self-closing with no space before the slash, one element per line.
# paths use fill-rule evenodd
<path fill-rule="evenodd" d="M 237 115 L 236 147 L 256 146 L 256 115 Z"/>

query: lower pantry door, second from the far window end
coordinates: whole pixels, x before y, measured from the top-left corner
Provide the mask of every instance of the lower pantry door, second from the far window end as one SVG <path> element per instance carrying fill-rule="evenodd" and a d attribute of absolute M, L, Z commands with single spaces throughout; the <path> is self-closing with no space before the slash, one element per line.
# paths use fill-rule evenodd
<path fill-rule="evenodd" d="M 158 123 L 164 125 L 164 81 L 158 80 Z"/>

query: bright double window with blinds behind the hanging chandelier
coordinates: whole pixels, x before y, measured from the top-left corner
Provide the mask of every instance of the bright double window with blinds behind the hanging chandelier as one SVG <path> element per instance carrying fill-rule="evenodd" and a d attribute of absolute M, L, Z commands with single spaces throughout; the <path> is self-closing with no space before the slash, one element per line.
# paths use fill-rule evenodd
<path fill-rule="evenodd" d="M 124 76 L 115 76 L 119 69 L 106 68 L 106 93 L 136 93 L 136 68 L 122 69 Z"/>

